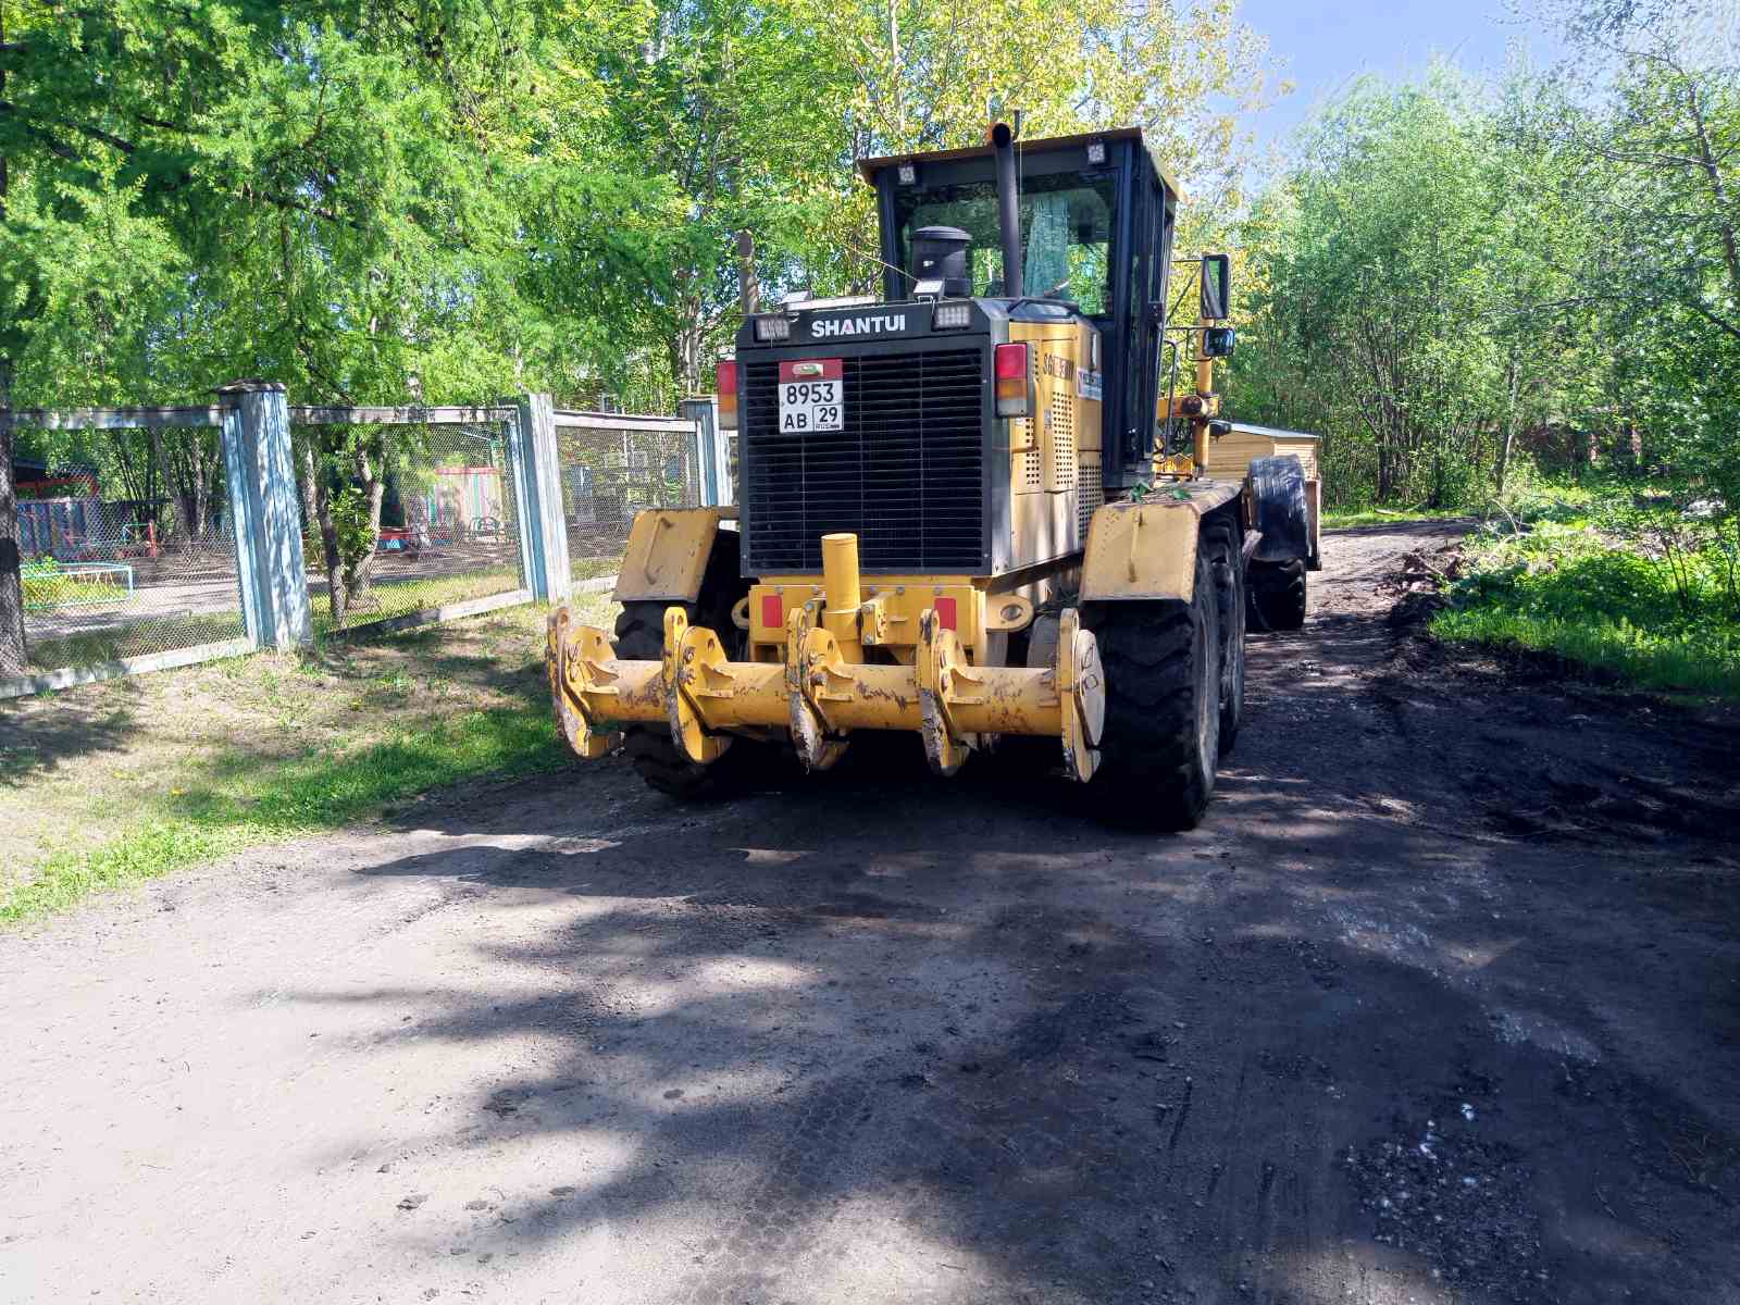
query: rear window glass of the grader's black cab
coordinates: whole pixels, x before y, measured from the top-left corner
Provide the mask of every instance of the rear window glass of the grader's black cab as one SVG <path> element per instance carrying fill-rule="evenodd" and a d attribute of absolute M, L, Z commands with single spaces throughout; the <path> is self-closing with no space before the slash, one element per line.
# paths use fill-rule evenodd
<path fill-rule="evenodd" d="M 1112 303 L 1112 177 L 1074 172 L 1021 183 L 1021 280 L 1032 296 L 1072 299 L 1084 313 Z M 973 294 L 1002 294 L 1002 240 L 997 235 L 997 183 L 901 188 L 894 193 L 900 264 L 912 271 L 912 233 L 959 226 L 973 237 Z"/>

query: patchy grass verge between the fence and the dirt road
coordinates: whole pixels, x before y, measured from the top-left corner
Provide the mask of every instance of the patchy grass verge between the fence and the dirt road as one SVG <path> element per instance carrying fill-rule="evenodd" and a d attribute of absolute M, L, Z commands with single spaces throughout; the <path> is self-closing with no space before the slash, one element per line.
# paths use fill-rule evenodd
<path fill-rule="evenodd" d="M 581 595 L 609 625 L 609 595 Z M 546 609 L 0 703 L 0 920 L 560 764 Z"/>

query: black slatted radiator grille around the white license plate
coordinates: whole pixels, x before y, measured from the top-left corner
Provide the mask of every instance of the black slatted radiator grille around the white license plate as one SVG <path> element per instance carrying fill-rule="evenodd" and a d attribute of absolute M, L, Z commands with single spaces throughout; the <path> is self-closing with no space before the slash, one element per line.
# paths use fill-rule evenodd
<path fill-rule="evenodd" d="M 781 435 L 778 364 L 741 369 L 745 566 L 820 571 L 821 536 L 858 534 L 865 571 L 983 569 L 978 348 L 844 360 L 846 430 Z"/>

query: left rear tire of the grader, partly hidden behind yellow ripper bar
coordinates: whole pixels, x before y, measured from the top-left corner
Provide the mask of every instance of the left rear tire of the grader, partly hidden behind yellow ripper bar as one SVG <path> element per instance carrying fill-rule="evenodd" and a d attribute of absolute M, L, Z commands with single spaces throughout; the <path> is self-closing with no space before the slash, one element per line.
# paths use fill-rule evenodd
<path fill-rule="evenodd" d="M 713 552 L 706 559 L 701 592 L 694 602 L 625 602 L 616 618 L 616 656 L 625 661 L 659 661 L 665 656 L 665 609 L 682 607 L 689 625 L 705 625 L 738 656 L 740 632 L 731 623 L 743 581 L 738 578 L 738 536 L 720 531 Z M 760 773 L 759 762 L 766 748 L 750 740 L 733 740 L 724 755 L 712 766 L 696 766 L 679 752 L 670 727 L 649 720 L 625 726 L 623 750 L 635 773 L 654 788 L 679 802 L 717 802 L 736 797 L 752 786 Z"/>

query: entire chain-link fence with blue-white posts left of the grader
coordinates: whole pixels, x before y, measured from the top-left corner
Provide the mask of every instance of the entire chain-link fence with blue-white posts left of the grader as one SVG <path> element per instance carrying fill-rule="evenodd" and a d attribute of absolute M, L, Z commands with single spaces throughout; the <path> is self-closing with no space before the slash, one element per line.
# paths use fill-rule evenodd
<path fill-rule="evenodd" d="M 28 652 L 0 698 L 557 600 L 571 583 L 607 590 L 635 513 L 729 501 L 705 400 L 666 418 L 562 412 L 546 395 L 296 407 L 270 381 L 216 393 L 209 407 L 0 411 L 35 432 L 14 465 Z M 30 463 L 45 447 L 78 456 Z"/>

